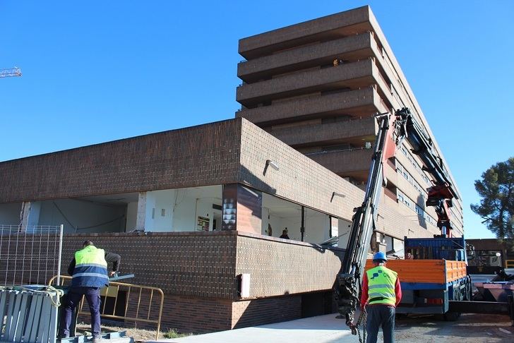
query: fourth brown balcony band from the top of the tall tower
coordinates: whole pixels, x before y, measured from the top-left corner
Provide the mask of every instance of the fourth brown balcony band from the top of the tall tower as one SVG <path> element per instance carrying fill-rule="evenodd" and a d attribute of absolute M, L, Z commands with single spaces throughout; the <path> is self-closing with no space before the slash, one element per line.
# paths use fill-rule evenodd
<path fill-rule="evenodd" d="M 369 87 L 349 92 L 305 97 L 265 107 L 243 109 L 236 112 L 236 116 L 248 119 L 253 124 L 262 127 L 342 114 L 366 117 L 377 112 L 388 112 L 388 107 L 378 92 L 374 88 Z"/>

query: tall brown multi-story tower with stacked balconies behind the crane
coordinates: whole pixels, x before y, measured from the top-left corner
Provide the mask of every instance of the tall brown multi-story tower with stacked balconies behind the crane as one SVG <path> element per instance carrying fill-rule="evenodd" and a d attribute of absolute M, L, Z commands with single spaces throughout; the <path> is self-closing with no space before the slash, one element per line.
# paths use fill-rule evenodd
<path fill-rule="evenodd" d="M 410 108 L 443 157 L 369 6 L 246 37 L 239 54 L 246 60 L 237 68 L 243 83 L 236 116 L 355 185 L 363 187 L 368 176 L 375 114 Z M 438 234 L 436 213 L 425 206 L 430 176 L 407 141 L 388 162 L 385 206 L 419 222 L 426 236 Z M 462 236 L 460 198 L 451 212 L 452 234 Z M 388 241 L 412 236 L 406 227 L 386 227 L 383 234 Z"/>

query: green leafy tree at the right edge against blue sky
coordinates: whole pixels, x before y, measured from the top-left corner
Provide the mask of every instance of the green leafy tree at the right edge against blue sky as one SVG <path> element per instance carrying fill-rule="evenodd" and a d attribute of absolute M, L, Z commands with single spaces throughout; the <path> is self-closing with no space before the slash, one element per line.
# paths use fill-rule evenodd
<path fill-rule="evenodd" d="M 482 200 L 471 210 L 484 218 L 487 229 L 499 239 L 514 238 L 514 157 L 498 162 L 474 181 Z"/>

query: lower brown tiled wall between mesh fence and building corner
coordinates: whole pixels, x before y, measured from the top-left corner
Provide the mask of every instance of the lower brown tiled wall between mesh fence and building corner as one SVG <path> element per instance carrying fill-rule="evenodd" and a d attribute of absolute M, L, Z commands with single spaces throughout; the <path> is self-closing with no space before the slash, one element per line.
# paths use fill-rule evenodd
<path fill-rule="evenodd" d="M 160 287 L 166 294 L 233 299 L 236 295 L 237 232 L 158 234 L 66 234 L 62 267 L 90 239 L 99 248 L 121 255 L 128 282 Z"/>

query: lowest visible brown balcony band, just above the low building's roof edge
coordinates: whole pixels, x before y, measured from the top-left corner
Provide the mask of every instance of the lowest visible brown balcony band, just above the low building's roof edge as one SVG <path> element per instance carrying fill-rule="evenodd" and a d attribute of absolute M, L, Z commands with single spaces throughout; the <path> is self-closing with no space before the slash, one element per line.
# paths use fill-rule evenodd
<path fill-rule="evenodd" d="M 372 155 L 373 149 L 358 149 L 316 152 L 306 156 L 337 175 L 361 176 L 368 173 Z"/>

